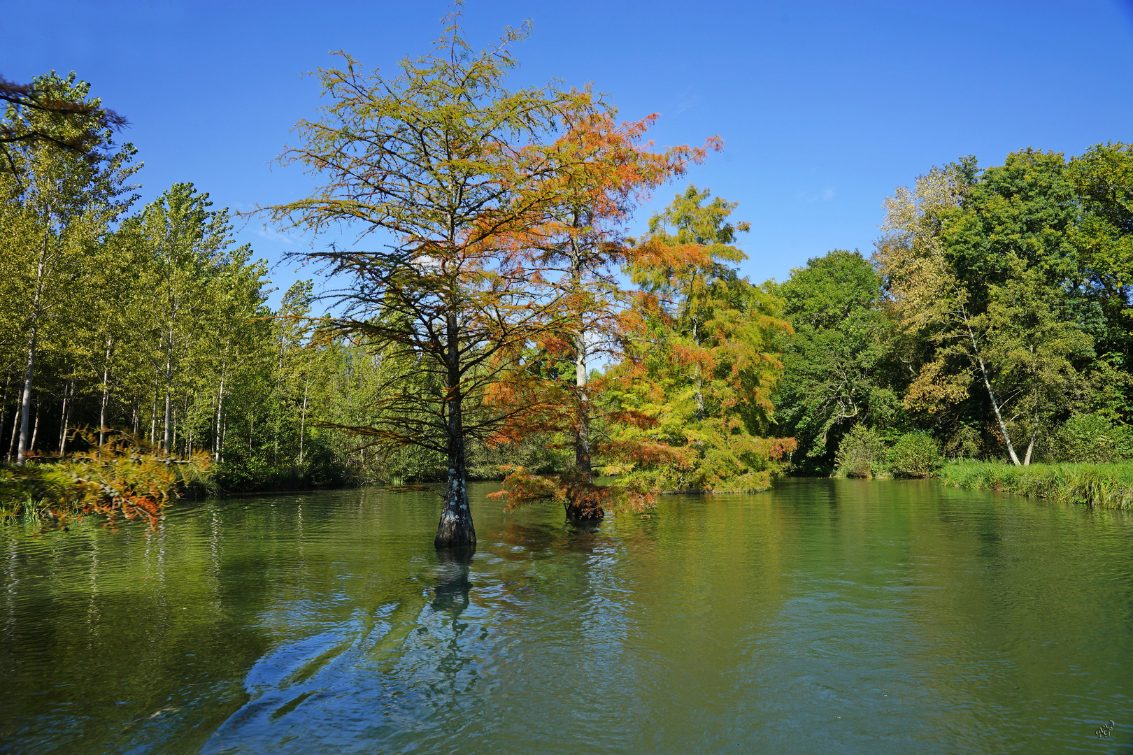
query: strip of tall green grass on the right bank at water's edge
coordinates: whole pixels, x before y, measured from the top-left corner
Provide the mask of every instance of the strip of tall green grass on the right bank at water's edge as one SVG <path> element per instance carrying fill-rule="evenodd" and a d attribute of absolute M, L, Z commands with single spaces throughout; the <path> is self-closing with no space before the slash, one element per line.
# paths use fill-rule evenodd
<path fill-rule="evenodd" d="M 961 462 L 945 464 L 940 481 L 956 488 L 1000 490 L 1067 504 L 1133 508 L 1133 463 L 1014 466 Z"/>

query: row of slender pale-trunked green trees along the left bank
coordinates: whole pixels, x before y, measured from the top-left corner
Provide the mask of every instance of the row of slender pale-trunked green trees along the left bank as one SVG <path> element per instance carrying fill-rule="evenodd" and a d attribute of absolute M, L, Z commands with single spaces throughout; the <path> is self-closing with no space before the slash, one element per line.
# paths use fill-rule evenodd
<path fill-rule="evenodd" d="M 74 75 L 31 88 L 83 113 L 101 106 Z M 76 126 L 14 102 L 5 122 L 57 138 L 9 140 L 0 172 L 0 454 L 48 458 L 126 431 L 171 453 L 206 449 L 228 489 L 373 473 L 372 457 L 316 422 L 348 422 L 376 378 L 356 345 L 307 348 L 309 281 L 273 312 L 266 265 L 233 242 L 207 194 L 177 183 L 137 207 L 140 164 L 105 119 Z"/>

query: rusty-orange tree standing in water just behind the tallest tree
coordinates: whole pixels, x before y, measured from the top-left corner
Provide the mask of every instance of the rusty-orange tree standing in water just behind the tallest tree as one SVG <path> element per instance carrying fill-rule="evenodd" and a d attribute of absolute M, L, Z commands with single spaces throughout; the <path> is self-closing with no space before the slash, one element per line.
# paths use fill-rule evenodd
<path fill-rule="evenodd" d="M 619 123 L 612 111 L 585 112 L 571 120 L 553 145 L 564 166 L 559 174 L 560 200 L 543 223 L 516 239 L 527 251 L 531 285 L 555 306 L 546 312 L 553 318 L 550 327 L 528 344 L 526 359 L 513 362 L 508 380 L 497 384 L 496 402 L 514 403 L 517 392 L 522 392 L 531 407 L 502 428 L 499 438 L 517 440 L 536 432 L 559 438 L 573 449 L 574 464 L 554 475 L 505 467 L 504 488 L 494 496 L 509 506 L 554 500 L 564 505 L 568 518 L 602 518 L 605 508 L 617 501 L 651 503 L 653 491 L 595 484 L 596 461 L 607 472 L 681 462 L 670 446 L 645 436 L 621 441 L 610 436 L 613 427 L 653 423 L 653 418 L 614 406 L 606 397 L 647 379 L 644 371 L 590 375 L 598 364 L 633 362 L 633 350 L 627 345 L 638 332 L 631 325 L 640 325 L 640 319 L 633 316 L 633 297 L 617 275 L 640 250 L 627 235 L 632 211 L 657 186 L 701 162 L 708 149 L 721 148 L 714 137 L 699 148 L 654 151 L 644 138 L 655 120 L 650 115 Z"/>

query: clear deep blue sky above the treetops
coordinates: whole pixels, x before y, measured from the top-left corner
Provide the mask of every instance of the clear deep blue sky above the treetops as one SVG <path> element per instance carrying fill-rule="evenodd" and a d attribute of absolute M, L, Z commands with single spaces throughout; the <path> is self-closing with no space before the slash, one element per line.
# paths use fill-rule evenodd
<path fill-rule="evenodd" d="M 272 168 L 318 104 L 303 72 L 338 49 L 393 72 L 429 49 L 446 10 L 443 0 L 0 0 L 0 72 L 23 81 L 53 68 L 91 81 L 130 120 L 143 200 L 193 181 L 241 211 L 309 187 Z M 1118 0 L 465 8 L 477 48 L 528 18 L 517 84 L 594 83 L 627 118 L 661 113 L 658 145 L 724 139 L 689 180 L 740 203 L 736 217 L 752 223 L 743 273 L 757 282 L 834 248 L 868 255 L 881 200 L 934 164 L 1133 140 L 1133 7 Z M 239 237 L 272 263 L 295 246 L 255 222 Z M 287 288 L 295 273 L 273 278 Z"/>

